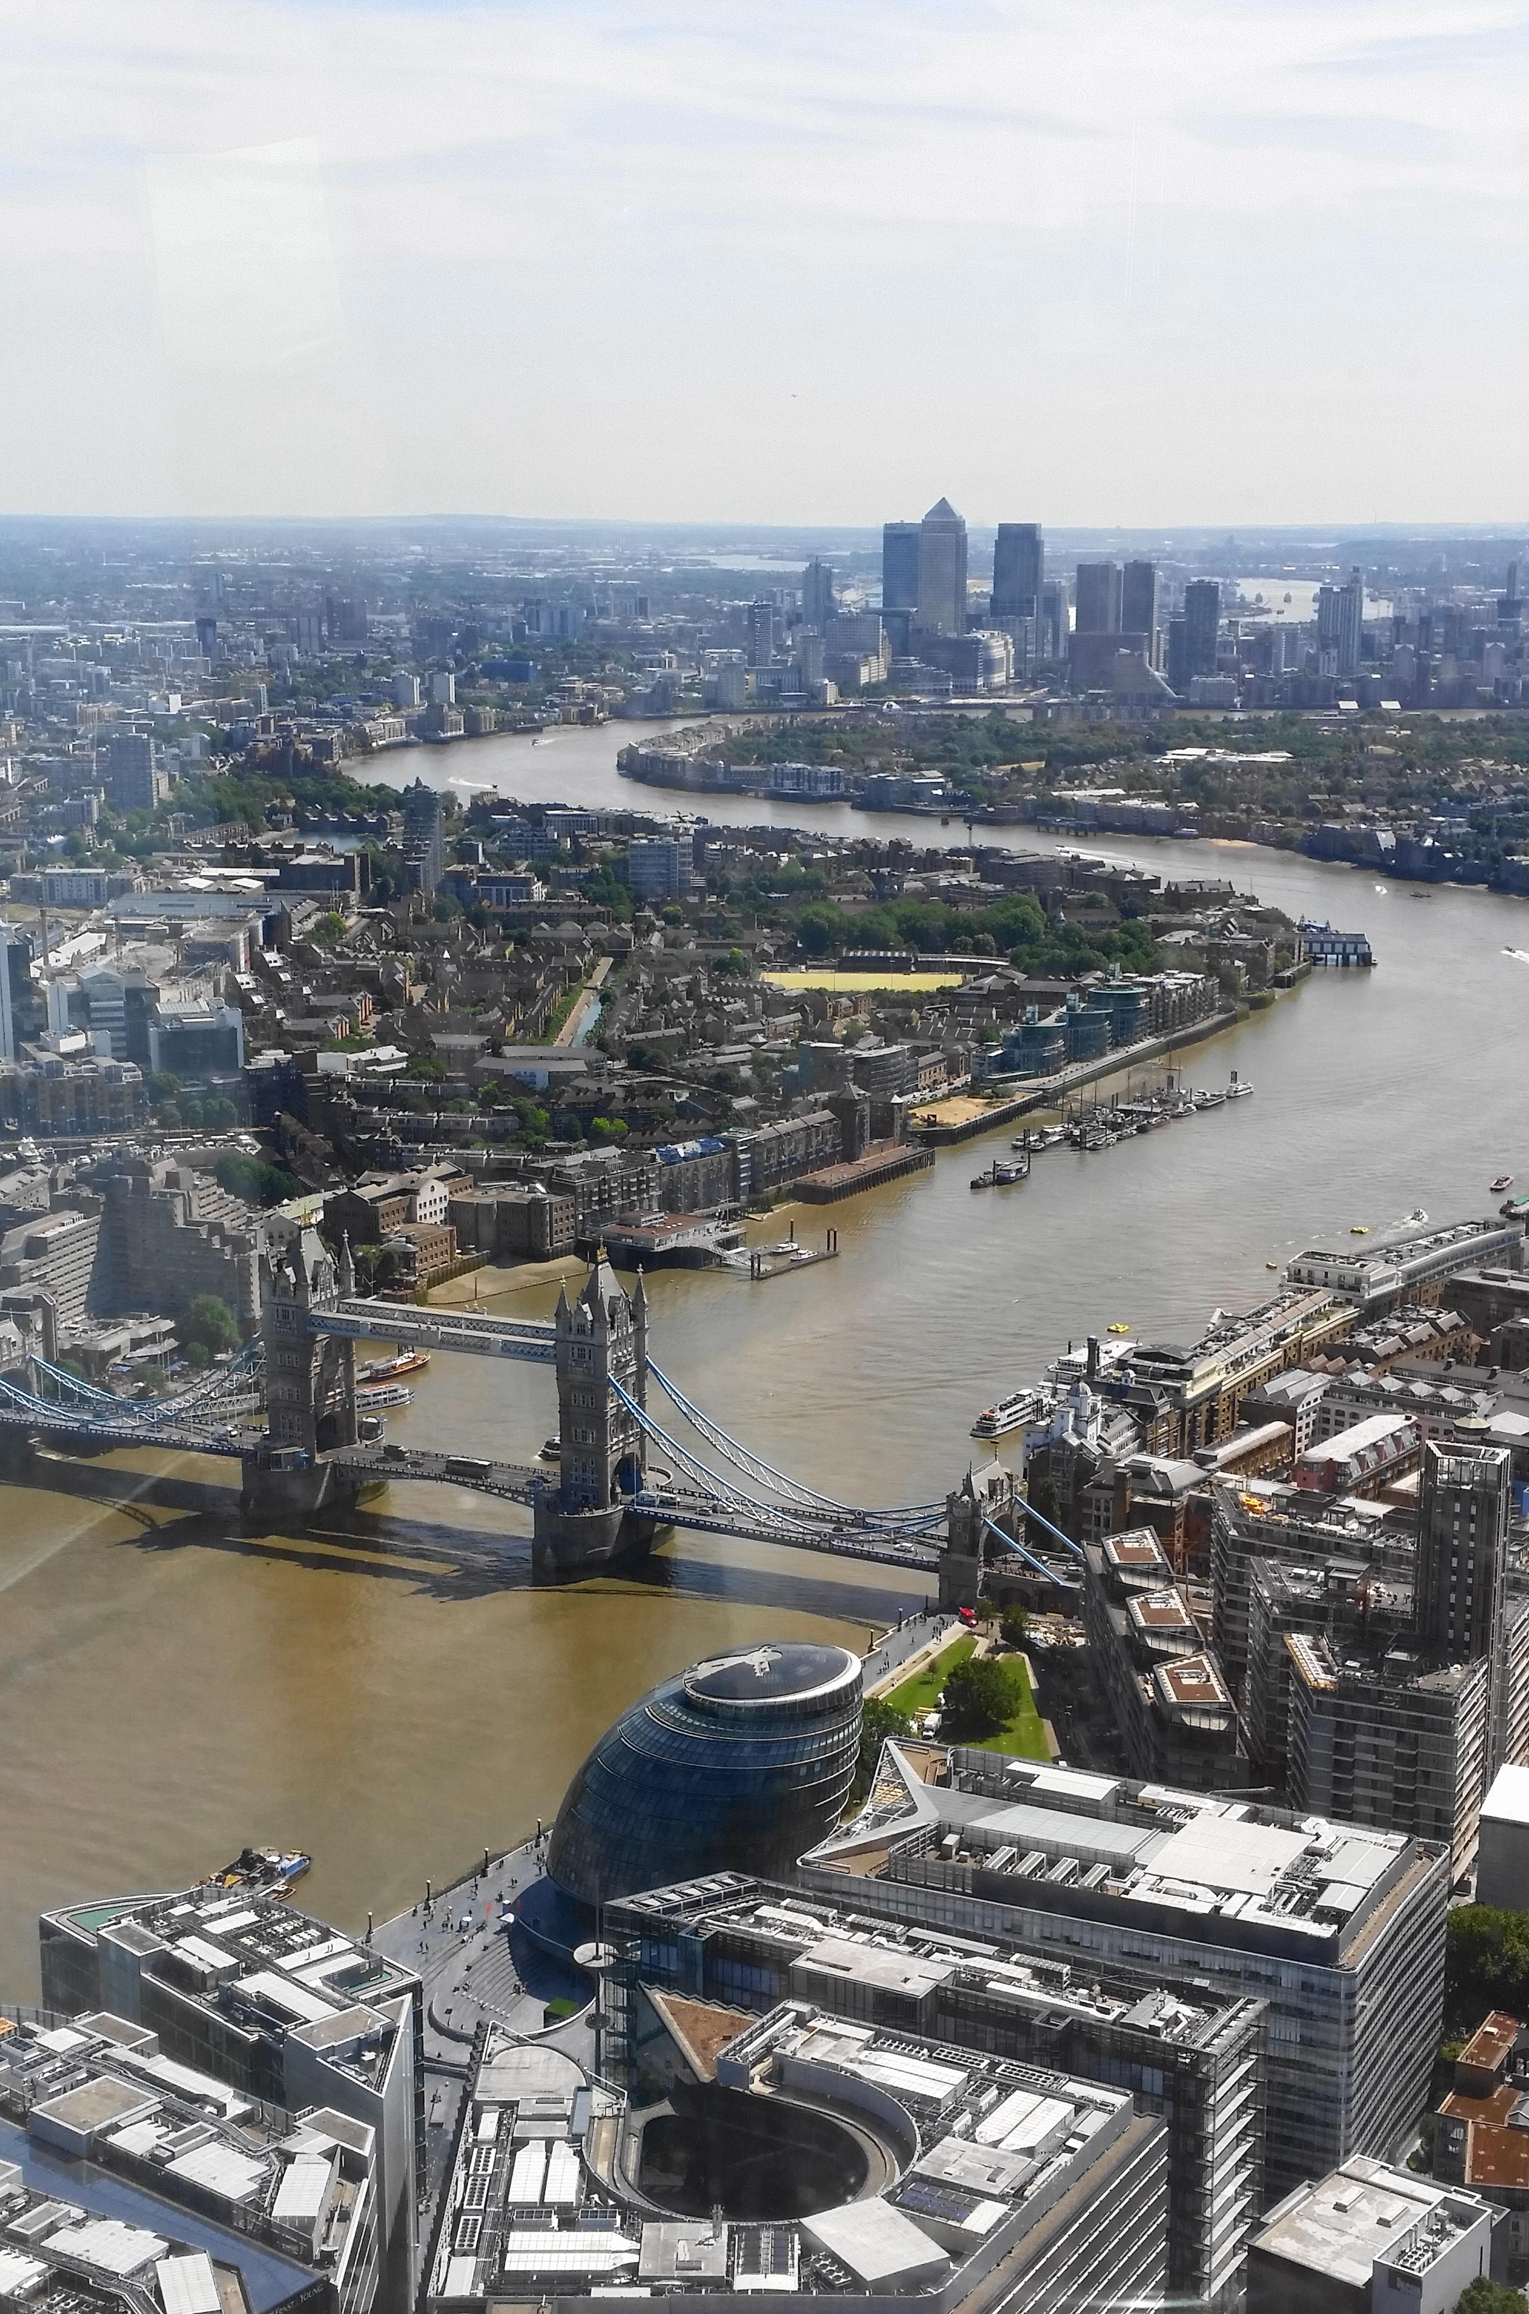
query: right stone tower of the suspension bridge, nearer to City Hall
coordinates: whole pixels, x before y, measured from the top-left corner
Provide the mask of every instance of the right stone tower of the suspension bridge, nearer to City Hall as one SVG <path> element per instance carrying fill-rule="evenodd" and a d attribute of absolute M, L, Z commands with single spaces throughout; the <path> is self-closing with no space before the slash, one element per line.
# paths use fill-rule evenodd
<path fill-rule="evenodd" d="M 652 1520 L 634 1518 L 627 1497 L 636 1493 L 648 1462 L 648 1442 L 613 1381 L 648 1405 L 648 1296 L 638 1275 L 627 1300 L 615 1270 L 594 1259 L 583 1294 L 557 1296 L 557 1488 L 537 1497 L 539 1574 L 567 1576 L 618 1553 L 645 1550 Z"/>

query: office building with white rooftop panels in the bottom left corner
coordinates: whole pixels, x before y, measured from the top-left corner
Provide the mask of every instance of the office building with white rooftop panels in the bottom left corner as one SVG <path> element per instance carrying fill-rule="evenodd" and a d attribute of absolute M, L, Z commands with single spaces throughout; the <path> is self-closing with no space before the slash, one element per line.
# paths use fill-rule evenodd
<path fill-rule="evenodd" d="M 377 2131 L 171 2062 L 97 2011 L 0 2039 L 0 2302 L 25 2314 L 370 2314 Z"/>

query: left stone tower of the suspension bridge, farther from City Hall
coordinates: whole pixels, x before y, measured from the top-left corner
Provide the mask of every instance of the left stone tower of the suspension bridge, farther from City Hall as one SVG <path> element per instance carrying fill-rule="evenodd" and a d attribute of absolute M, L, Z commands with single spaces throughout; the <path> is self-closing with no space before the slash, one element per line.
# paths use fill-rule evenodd
<path fill-rule="evenodd" d="M 356 1444 L 356 1351 L 312 1333 L 315 1310 L 333 1310 L 349 1273 L 317 1229 L 268 1245 L 259 1259 L 259 1328 L 266 1344 L 266 1442 L 245 1456 L 243 1509 L 252 1518 L 303 1516 L 356 1493 L 322 1456 Z"/>

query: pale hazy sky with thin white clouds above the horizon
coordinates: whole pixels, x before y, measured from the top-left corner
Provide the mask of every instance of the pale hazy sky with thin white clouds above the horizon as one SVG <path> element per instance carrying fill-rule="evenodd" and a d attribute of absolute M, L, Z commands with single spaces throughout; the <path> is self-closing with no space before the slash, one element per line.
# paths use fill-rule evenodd
<path fill-rule="evenodd" d="M 0 511 L 1522 521 L 1529 14 L 0 0 Z"/>

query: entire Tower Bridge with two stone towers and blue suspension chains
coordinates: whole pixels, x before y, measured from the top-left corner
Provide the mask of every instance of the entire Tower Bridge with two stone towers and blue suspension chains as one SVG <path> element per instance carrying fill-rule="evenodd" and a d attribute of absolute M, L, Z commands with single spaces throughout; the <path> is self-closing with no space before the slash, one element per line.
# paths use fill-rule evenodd
<path fill-rule="evenodd" d="M 384 1444 L 356 1407 L 356 1342 L 551 1365 L 555 1469 Z M 981 1483 L 967 1474 L 941 1502 L 865 1509 L 729 1437 L 652 1361 L 641 1273 L 627 1296 L 604 1252 L 574 1300 L 560 1291 L 551 1319 L 518 1319 L 365 1300 L 349 1245 L 335 1257 L 315 1229 L 291 1231 L 261 1254 L 259 1335 L 227 1368 L 173 1398 L 123 1400 L 35 1358 L 25 1384 L 0 1377 L 7 1432 L 238 1456 L 245 1516 L 266 1523 L 308 1520 L 382 1476 L 465 1486 L 530 1506 L 537 1571 L 555 1578 L 645 1553 L 662 1527 L 694 1527 L 937 1571 L 946 1604 L 974 1601 L 995 1571 L 1066 1583 L 1055 1557 L 1015 1541 L 1036 1513 L 999 1465 Z"/>

